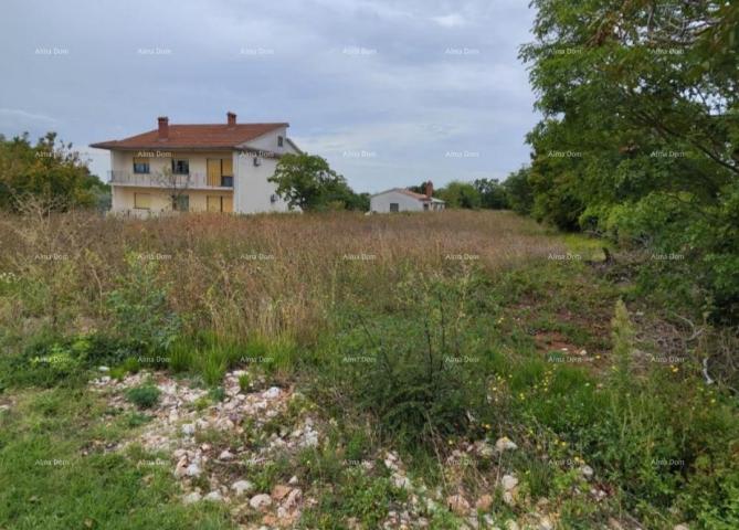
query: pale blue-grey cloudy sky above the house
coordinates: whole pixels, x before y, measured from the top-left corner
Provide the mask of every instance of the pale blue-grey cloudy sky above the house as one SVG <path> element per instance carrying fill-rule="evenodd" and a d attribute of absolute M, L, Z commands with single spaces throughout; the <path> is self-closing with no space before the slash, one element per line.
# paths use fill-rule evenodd
<path fill-rule="evenodd" d="M 505 178 L 536 123 L 526 0 L 4 0 L 0 132 L 56 130 L 106 179 L 170 123 L 289 121 L 357 191 Z"/>

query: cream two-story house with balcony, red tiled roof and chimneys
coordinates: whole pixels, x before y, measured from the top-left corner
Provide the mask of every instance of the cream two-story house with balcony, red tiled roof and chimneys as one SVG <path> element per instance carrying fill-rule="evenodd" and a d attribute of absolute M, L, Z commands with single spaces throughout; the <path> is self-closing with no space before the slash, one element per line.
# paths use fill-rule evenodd
<path fill-rule="evenodd" d="M 281 156 L 300 150 L 288 124 L 175 125 L 89 147 L 110 151 L 113 212 L 281 212 L 287 204 L 267 179 Z"/>

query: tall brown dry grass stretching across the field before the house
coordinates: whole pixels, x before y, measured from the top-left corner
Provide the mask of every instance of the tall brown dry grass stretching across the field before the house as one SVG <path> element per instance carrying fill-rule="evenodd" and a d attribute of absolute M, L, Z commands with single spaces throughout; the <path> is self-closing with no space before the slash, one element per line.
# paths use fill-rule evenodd
<path fill-rule="evenodd" d="M 446 274 L 471 264 L 493 272 L 563 252 L 536 223 L 490 211 L 145 221 L 31 211 L 0 219 L 0 272 L 39 290 L 22 303 L 6 297 L 7 326 L 103 325 L 104 300 L 126 282 L 126 257 L 134 254 L 158 263 L 172 306 L 191 317 L 192 328 L 307 339 L 335 304 L 382 297 L 409 272 Z"/>

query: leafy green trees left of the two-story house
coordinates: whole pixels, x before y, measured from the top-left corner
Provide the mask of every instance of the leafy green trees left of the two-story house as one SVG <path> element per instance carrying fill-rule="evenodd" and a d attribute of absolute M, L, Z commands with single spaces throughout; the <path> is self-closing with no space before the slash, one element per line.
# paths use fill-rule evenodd
<path fill-rule="evenodd" d="M 56 210 L 95 206 L 107 186 L 91 174 L 72 144 L 47 132 L 35 146 L 23 134 L 0 135 L 0 209 L 18 211 L 25 197 L 38 197 Z"/>

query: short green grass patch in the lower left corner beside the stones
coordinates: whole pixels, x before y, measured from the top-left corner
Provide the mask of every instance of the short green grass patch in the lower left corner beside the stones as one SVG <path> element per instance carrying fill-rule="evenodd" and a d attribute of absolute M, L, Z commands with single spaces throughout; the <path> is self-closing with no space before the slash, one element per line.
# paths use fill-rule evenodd
<path fill-rule="evenodd" d="M 151 464 L 160 455 L 103 451 L 123 431 L 101 423 L 102 400 L 74 389 L 14 398 L 0 414 L 3 528 L 235 528 L 218 507 L 183 506 L 171 470 Z"/>

